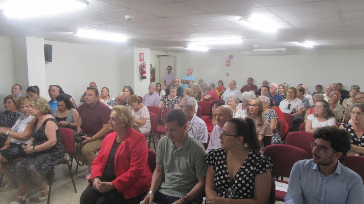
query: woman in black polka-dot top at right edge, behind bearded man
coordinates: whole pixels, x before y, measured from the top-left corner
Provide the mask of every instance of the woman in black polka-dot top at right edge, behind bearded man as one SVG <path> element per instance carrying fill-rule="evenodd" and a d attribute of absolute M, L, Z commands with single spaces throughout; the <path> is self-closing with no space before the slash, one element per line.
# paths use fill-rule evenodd
<path fill-rule="evenodd" d="M 350 123 L 341 123 L 340 128 L 349 131 L 351 136 L 351 151 L 348 155 L 364 155 L 364 103 L 353 105 Z"/>

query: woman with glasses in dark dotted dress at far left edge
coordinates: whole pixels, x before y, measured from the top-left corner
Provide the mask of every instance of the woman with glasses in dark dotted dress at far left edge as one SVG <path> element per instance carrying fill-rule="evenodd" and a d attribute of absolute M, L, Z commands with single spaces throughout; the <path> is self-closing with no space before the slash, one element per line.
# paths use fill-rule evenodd
<path fill-rule="evenodd" d="M 11 130 L 14 126 L 15 121 L 21 115 L 19 106 L 17 105 L 18 97 L 16 95 L 8 95 L 4 98 L 4 106 L 6 111 L 0 117 L 0 128 L 5 130 Z M 8 135 L 0 135 L 0 148 L 4 146 L 4 143 Z"/>

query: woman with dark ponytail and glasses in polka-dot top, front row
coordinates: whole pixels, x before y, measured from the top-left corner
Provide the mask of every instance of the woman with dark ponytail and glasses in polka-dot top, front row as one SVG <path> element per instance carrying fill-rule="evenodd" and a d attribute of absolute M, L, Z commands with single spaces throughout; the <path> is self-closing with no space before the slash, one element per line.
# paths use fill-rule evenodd
<path fill-rule="evenodd" d="M 259 153 L 254 121 L 232 118 L 222 128 L 221 147 L 205 156 L 206 203 L 222 204 L 230 199 L 267 203 L 272 163 Z M 244 202 L 244 201 L 242 201 Z"/>

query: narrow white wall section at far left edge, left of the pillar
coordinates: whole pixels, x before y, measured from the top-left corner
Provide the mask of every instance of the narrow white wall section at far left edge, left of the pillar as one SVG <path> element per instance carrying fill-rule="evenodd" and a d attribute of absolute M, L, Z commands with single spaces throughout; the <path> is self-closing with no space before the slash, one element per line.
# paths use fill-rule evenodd
<path fill-rule="evenodd" d="M 13 38 L 0 36 L 0 101 L 11 94 L 11 86 L 15 81 L 14 48 Z M 24 87 L 23 87 L 24 88 Z M 3 103 L 0 103 L 0 110 L 4 111 Z"/>

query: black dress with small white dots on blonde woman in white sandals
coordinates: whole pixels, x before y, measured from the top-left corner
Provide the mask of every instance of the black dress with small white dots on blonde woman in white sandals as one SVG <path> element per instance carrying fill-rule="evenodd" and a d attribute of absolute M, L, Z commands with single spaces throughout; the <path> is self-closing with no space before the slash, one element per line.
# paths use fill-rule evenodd
<path fill-rule="evenodd" d="M 32 132 L 32 136 L 34 138 L 33 146 L 37 146 L 48 141 L 47 136 L 44 133 L 46 123 L 48 121 L 53 121 L 58 126 L 58 129 L 56 130 L 57 142 L 48 150 L 24 156 L 24 158 L 16 164 L 14 178 L 18 184 L 23 184 L 26 187 L 38 187 L 44 181 L 49 169 L 54 167 L 64 157 L 64 147 L 59 125 L 54 118 L 46 119 L 37 131 L 36 127 L 38 121 L 35 122 Z"/>

